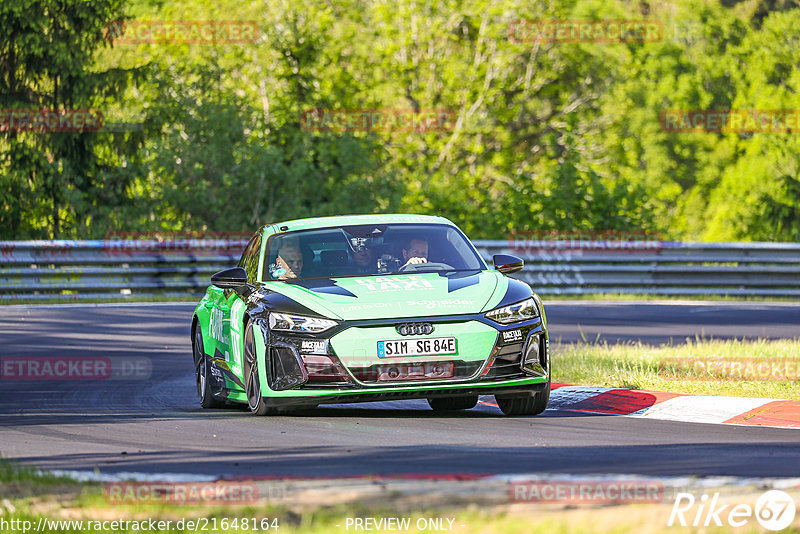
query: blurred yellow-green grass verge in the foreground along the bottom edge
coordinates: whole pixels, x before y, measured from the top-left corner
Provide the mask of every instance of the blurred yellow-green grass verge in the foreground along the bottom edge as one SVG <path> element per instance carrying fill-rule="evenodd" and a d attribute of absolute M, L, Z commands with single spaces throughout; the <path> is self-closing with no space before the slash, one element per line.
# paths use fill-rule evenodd
<path fill-rule="evenodd" d="M 260 499 L 246 505 L 167 505 L 152 502 L 115 504 L 100 483 L 71 482 L 72 492 L 59 492 L 63 479 L 0 461 L 0 531 L 8 533 L 85 532 L 219 532 L 284 534 L 348 532 L 452 532 L 514 534 L 538 532 L 675 532 L 667 526 L 674 495 L 653 502 L 588 504 L 586 502 L 513 502 L 508 487 L 450 483 L 449 500 L 436 483 L 420 491 L 414 482 L 403 489 L 375 481 L 296 482 L 280 503 Z M 262 482 L 263 483 L 263 482 Z M 20 492 L 20 484 L 25 488 Z M 306 485 L 303 484 L 311 484 Z M 355 484 L 355 486 L 354 486 Z M 471 484 L 471 485 L 470 485 Z M 507 483 L 506 483 L 507 484 Z M 16 485 L 16 486 L 15 486 Z M 361 488 L 359 494 L 357 488 Z M 9 489 L 14 492 L 9 492 Z M 665 488 L 666 489 L 666 488 Z M 365 491 L 366 490 L 366 491 Z M 684 489 L 681 489 L 684 491 Z M 694 490 L 691 490 L 694 491 Z M 708 491 L 707 489 L 702 491 Z M 723 502 L 754 503 L 763 488 L 723 487 Z M 795 500 L 800 497 L 792 491 Z M 699 491 L 695 492 L 699 494 Z M 372 498 L 363 496 L 371 495 Z M 332 498 L 333 497 L 333 498 Z M 483 502 L 482 502 L 483 499 Z M 493 499 L 493 500 L 492 500 Z M 730 508 L 730 504 L 728 504 Z M 360 520 L 360 527 L 357 520 Z M 691 516 L 690 516 L 691 520 Z M 751 521 L 749 529 L 753 531 Z M 398 528 L 398 525 L 405 525 Z M 757 526 L 757 525 L 756 525 Z M 797 533 L 800 518 L 784 532 Z M 728 528 L 680 528 L 680 532 L 726 532 Z"/>

